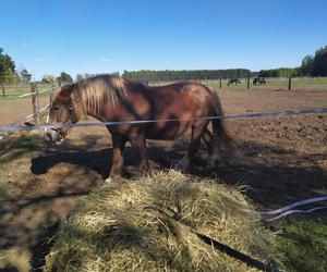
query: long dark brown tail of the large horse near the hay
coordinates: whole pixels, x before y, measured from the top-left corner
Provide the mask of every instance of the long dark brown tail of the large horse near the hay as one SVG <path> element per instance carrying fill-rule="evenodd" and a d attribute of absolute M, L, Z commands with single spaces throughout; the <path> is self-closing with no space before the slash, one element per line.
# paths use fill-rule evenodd
<path fill-rule="evenodd" d="M 216 144 L 215 153 L 217 157 L 221 157 L 218 154 L 222 151 L 223 157 L 227 156 L 229 159 L 235 159 L 237 152 L 237 145 L 234 139 L 229 135 L 225 126 L 223 120 L 223 111 L 221 107 L 220 99 L 216 92 L 213 92 L 215 97 L 215 116 L 221 116 L 221 119 L 213 119 L 213 132 L 214 132 L 214 139 Z"/>

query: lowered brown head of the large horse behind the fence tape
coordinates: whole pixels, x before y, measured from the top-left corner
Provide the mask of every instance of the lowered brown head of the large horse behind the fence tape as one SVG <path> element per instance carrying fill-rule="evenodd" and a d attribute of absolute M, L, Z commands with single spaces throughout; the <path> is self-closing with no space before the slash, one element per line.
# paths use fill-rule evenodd
<path fill-rule="evenodd" d="M 66 125 L 74 124 L 78 121 L 78 114 L 75 109 L 73 96 L 74 85 L 65 85 L 59 87 L 50 98 L 50 109 L 47 119 L 49 125 Z M 69 134 L 70 127 L 46 128 L 45 139 L 61 144 L 64 137 Z"/>

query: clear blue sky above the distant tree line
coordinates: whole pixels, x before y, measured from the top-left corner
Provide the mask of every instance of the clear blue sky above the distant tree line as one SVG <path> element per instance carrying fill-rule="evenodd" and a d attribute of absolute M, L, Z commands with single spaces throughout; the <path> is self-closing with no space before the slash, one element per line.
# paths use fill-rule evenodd
<path fill-rule="evenodd" d="M 36 79 L 296 66 L 327 45 L 326 0 L 1 0 L 0 10 L 0 47 Z"/>

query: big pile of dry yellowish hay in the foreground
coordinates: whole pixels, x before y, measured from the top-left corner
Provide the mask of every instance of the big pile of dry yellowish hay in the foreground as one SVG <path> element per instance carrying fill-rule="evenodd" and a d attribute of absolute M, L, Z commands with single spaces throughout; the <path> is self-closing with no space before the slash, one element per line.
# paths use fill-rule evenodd
<path fill-rule="evenodd" d="M 62 223 L 46 271 L 253 271 L 192 230 L 259 260 L 274 236 L 235 188 L 175 171 L 112 183 Z"/>

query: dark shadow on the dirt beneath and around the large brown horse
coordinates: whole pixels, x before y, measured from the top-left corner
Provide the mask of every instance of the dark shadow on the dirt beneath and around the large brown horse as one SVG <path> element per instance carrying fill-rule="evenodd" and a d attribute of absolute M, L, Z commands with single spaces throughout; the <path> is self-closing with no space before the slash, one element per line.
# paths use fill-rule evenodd
<path fill-rule="evenodd" d="M 152 169 L 174 168 L 186 152 L 187 146 L 189 144 L 184 140 L 170 146 L 164 141 L 150 141 L 148 153 Z M 326 160 L 326 153 L 311 154 L 312 159 L 308 160 L 307 154 L 256 143 L 241 143 L 239 149 L 242 150 L 242 154 L 237 161 L 208 171 L 206 170 L 207 153 L 202 147 L 187 172 L 199 178 L 216 178 L 217 182 L 231 186 L 246 185 L 245 194 L 261 207 L 278 207 L 286 202 L 314 197 L 318 195 L 318 191 L 327 190 L 326 170 L 319 164 L 312 163 L 313 160 Z M 44 174 L 58 163 L 65 162 L 92 169 L 104 180 L 107 178 L 110 174 L 112 149 L 87 150 L 87 147 L 82 149 L 73 145 L 62 150 L 50 150 L 32 160 L 32 173 Z M 134 150 L 126 147 L 124 177 L 140 174 L 138 162 Z"/>

